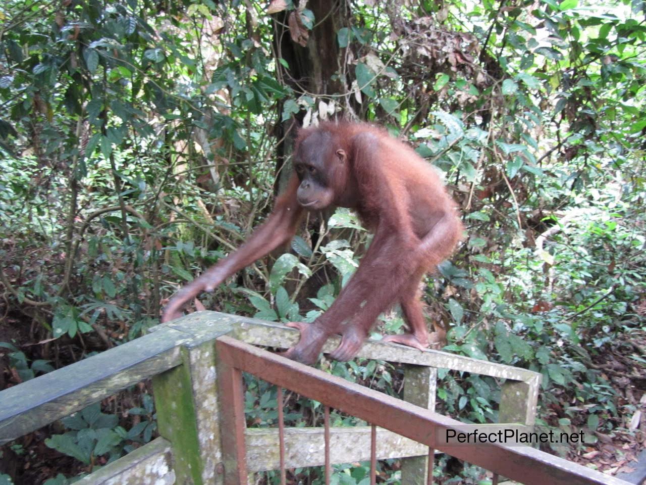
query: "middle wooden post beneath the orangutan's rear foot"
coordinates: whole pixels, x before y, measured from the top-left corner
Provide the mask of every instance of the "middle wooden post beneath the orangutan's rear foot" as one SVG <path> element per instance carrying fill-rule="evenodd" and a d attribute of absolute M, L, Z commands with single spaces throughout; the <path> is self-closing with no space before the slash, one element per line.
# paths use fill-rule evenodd
<path fill-rule="evenodd" d="M 404 371 L 404 401 L 435 411 L 437 369 L 408 365 Z M 402 458 L 402 485 L 422 485 L 428 480 L 428 457 Z"/>

